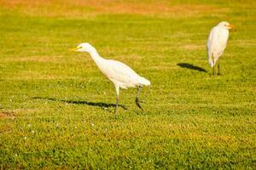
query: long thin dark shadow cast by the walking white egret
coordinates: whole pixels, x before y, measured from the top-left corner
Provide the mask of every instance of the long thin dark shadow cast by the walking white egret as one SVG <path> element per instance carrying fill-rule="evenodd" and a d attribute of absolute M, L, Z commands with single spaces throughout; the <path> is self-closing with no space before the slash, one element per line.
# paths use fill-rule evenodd
<path fill-rule="evenodd" d="M 100 107 L 102 109 L 115 107 L 116 104 L 109 104 L 109 103 L 103 103 L 103 102 L 91 102 L 91 101 L 85 101 L 85 100 L 72 100 L 72 99 L 55 99 L 55 98 L 47 98 L 47 97 L 33 97 L 32 99 L 47 99 L 50 101 L 57 101 L 57 102 L 63 102 L 67 104 L 74 104 L 74 105 L 90 105 L 90 106 L 96 106 Z M 119 107 L 123 108 L 124 110 L 127 110 L 125 105 L 119 105 Z"/>

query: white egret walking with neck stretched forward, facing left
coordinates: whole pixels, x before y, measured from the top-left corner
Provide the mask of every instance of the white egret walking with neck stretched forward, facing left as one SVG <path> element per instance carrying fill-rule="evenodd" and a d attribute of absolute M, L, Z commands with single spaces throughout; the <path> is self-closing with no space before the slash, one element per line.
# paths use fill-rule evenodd
<path fill-rule="evenodd" d="M 138 88 L 136 96 L 136 104 L 140 109 L 143 109 L 139 103 L 138 96 L 141 92 L 143 86 L 149 86 L 150 82 L 144 78 L 137 75 L 128 65 L 121 63 L 113 59 L 104 59 L 100 56 L 96 48 L 92 47 L 90 43 L 83 42 L 80 43 L 76 48 L 73 49 L 78 52 L 87 52 L 90 54 L 91 58 L 96 63 L 97 67 L 102 71 L 102 73 L 108 77 L 108 79 L 113 82 L 116 91 L 116 106 L 114 113 L 117 113 L 117 108 L 119 105 L 119 88 Z"/>

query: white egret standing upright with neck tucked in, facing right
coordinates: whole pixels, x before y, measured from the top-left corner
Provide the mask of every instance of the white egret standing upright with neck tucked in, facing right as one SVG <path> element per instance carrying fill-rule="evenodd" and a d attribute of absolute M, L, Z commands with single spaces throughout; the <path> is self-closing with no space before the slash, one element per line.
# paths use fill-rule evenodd
<path fill-rule="evenodd" d="M 215 75 L 214 67 L 218 64 L 219 71 L 219 57 L 224 53 L 229 38 L 229 30 L 235 26 L 230 25 L 227 21 L 222 21 L 214 26 L 210 32 L 207 41 L 208 62 L 212 67 L 212 74 Z"/>

